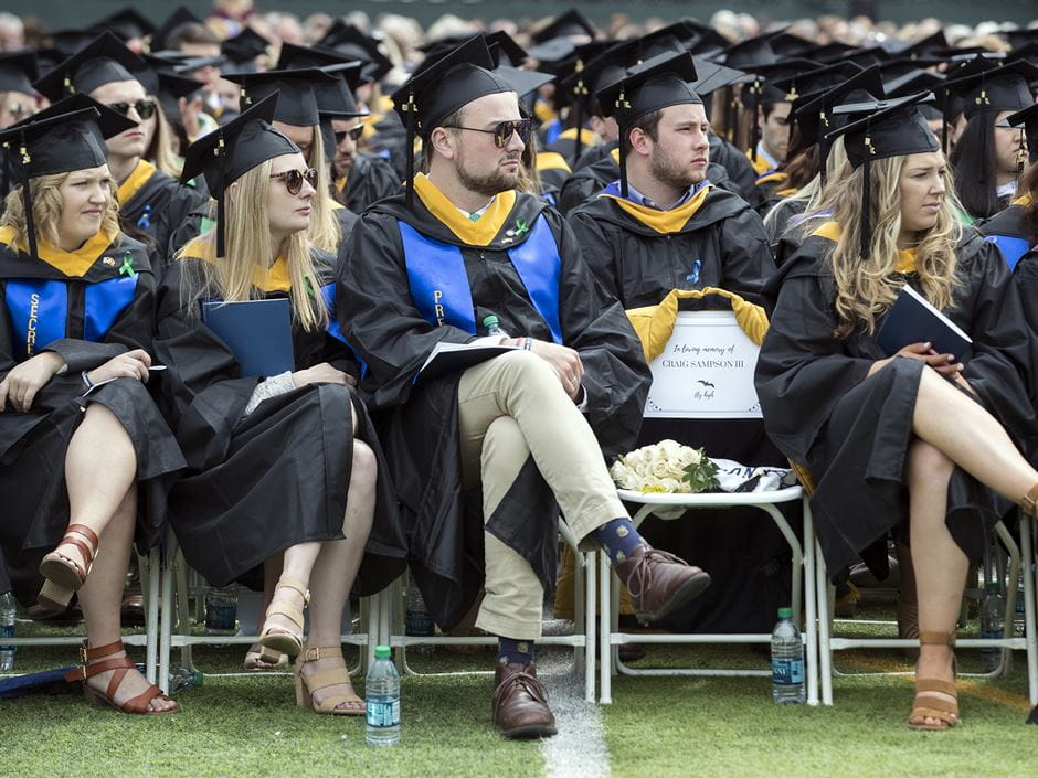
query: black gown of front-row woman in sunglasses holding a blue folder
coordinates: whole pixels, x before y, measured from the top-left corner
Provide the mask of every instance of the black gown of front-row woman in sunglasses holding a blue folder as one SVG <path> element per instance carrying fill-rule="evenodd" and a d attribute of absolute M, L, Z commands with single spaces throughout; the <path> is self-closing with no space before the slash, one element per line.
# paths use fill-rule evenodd
<path fill-rule="evenodd" d="M 322 286 L 332 283 L 333 258 L 314 252 Z M 162 279 L 156 352 L 169 365 L 163 402 L 188 462 L 169 494 L 170 524 L 188 563 L 223 585 L 297 543 L 342 539 L 354 435 L 349 404 L 357 394 L 310 384 L 243 417 L 260 379 L 241 377 L 231 350 L 180 306 L 182 284 L 197 288 L 200 262 L 171 263 Z M 296 370 L 328 362 L 359 376 L 352 351 L 330 332 L 293 326 L 292 335 Z M 357 412 L 356 436 L 379 466 L 374 523 L 354 583 L 354 592 L 370 595 L 403 571 L 403 540 L 382 449 L 363 403 Z"/>

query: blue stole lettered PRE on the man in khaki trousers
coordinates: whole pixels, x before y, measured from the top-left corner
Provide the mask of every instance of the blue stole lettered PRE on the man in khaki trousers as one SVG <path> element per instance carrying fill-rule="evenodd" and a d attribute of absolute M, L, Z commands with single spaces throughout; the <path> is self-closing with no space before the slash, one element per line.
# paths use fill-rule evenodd
<path fill-rule="evenodd" d="M 431 324 L 451 324 L 476 334 L 472 287 L 462 249 L 422 235 L 405 222 L 398 221 L 398 225 L 404 246 L 411 297 L 419 312 Z M 548 323 L 552 340 L 562 343 L 559 317 L 562 259 L 547 220 L 538 219 L 529 237 L 508 249 L 508 258 L 527 288 L 537 312 Z"/>

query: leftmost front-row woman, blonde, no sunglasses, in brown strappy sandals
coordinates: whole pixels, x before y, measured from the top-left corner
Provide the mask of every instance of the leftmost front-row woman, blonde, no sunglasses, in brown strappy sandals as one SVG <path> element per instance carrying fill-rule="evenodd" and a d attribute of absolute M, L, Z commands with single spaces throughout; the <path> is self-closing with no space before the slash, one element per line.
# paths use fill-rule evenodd
<path fill-rule="evenodd" d="M 184 466 L 144 386 L 155 276 L 119 232 L 105 162 L 103 139 L 133 125 L 77 95 L 0 132 L 22 180 L 0 220 L 0 543 L 40 565 L 25 605 L 63 610 L 78 594 L 87 641 L 65 678 L 92 702 L 160 714 L 176 703 L 119 639 L 131 544 L 161 539 Z"/>

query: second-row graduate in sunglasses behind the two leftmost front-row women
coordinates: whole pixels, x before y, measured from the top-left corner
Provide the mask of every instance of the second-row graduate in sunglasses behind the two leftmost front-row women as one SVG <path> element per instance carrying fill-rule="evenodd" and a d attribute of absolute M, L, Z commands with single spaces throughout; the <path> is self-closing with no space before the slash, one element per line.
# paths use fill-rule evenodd
<path fill-rule="evenodd" d="M 137 126 L 106 142 L 123 231 L 150 244 L 156 273 L 168 259 L 172 231 L 209 201 L 204 188 L 188 186 L 146 159 L 160 131 L 158 75 L 110 32 L 104 32 L 35 82 L 50 100 L 85 93 Z M 168 128 L 167 128 L 168 129 Z"/>

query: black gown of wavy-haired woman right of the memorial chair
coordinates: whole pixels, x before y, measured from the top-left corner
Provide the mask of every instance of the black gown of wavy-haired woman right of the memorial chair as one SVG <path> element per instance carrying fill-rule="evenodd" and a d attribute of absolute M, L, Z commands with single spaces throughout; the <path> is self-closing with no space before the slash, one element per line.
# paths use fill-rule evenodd
<path fill-rule="evenodd" d="M 755 383 L 772 439 L 811 469 L 815 527 L 829 572 L 837 575 L 860 554 L 882 578 L 883 539 L 908 515 L 902 471 L 920 374 L 929 367 L 897 359 L 866 377 L 886 356 L 875 337 L 833 337 L 835 287 L 825 259 L 832 246 L 808 237 L 769 286 L 777 303 Z M 958 275 L 955 306 L 944 313 L 974 340 L 963 375 L 977 402 L 1025 448 L 1034 439 L 1035 412 L 1020 377 L 1030 343 L 1017 290 L 998 252 L 975 231 L 958 247 Z M 905 280 L 918 287 L 914 274 Z M 949 530 L 977 559 L 1011 503 L 960 468 L 947 500 Z"/>

